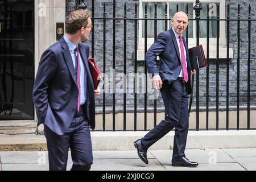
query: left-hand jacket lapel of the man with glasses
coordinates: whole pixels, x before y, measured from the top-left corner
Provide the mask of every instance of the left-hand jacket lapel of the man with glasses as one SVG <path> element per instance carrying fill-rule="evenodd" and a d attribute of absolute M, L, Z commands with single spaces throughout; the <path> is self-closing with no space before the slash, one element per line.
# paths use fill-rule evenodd
<path fill-rule="evenodd" d="M 68 70 L 73 78 L 73 81 L 75 82 L 76 86 L 77 86 L 77 81 L 76 81 L 76 71 L 73 65 L 73 61 L 72 61 L 72 57 L 68 48 L 68 44 L 65 42 L 65 40 L 62 38 L 61 40 L 61 46 L 63 48 L 63 55 L 65 58 L 65 62 L 68 66 Z"/>

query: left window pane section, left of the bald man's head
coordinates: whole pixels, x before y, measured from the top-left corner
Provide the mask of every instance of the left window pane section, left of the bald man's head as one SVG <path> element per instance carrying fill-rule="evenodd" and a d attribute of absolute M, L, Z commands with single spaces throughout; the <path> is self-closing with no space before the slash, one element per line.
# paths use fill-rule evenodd
<path fill-rule="evenodd" d="M 156 3 L 157 5 L 157 14 L 158 14 L 158 18 L 165 18 L 165 7 L 166 7 L 166 3 Z M 143 6 L 143 18 L 145 17 L 145 3 L 142 3 Z M 154 18 L 155 16 L 155 3 L 154 2 L 148 2 L 147 3 L 147 18 Z M 158 34 L 160 34 L 160 32 L 163 32 L 165 30 L 165 24 L 164 24 L 164 20 L 158 20 L 158 29 L 157 32 Z M 145 24 L 143 21 L 143 34 L 142 37 L 145 37 Z M 154 38 L 155 35 L 155 25 L 154 25 L 154 20 L 148 20 L 147 21 L 147 37 L 148 38 Z"/>

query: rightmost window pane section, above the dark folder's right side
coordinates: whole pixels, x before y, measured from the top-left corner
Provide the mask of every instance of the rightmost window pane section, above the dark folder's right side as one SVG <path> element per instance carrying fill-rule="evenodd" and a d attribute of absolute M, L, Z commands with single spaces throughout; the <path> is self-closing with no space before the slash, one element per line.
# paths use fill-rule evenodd
<path fill-rule="evenodd" d="M 207 18 L 207 5 L 208 3 L 201 3 L 202 10 L 200 17 Z M 217 19 L 217 5 L 220 3 L 209 3 L 209 16 L 210 19 Z M 209 23 L 209 36 L 210 38 L 217 38 L 217 21 L 210 21 Z M 207 38 L 207 21 L 200 21 L 200 38 Z"/>

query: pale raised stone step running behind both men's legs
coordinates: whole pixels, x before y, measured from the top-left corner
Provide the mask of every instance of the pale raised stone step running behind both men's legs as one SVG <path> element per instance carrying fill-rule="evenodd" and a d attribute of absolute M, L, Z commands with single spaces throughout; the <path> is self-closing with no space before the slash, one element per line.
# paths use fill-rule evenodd
<path fill-rule="evenodd" d="M 144 137 L 144 131 L 98 132 L 92 134 L 94 151 L 135 150 L 133 142 Z M 174 131 L 171 131 L 150 150 L 169 150 L 173 147 Z M 256 130 L 250 131 L 189 131 L 187 149 L 205 148 L 256 148 Z M 0 135 L 0 151 L 46 151 L 44 135 Z"/>

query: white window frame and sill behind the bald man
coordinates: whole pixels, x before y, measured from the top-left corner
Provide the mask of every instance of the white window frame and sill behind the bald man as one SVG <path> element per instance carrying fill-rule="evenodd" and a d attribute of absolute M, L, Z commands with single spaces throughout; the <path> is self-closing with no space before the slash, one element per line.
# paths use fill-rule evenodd
<path fill-rule="evenodd" d="M 139 0 L 139 18 L 143 17 L 143 3 L 145 2 L 157 2 L 157 3 L 167 3 L 169 9 L 169 2 L 171 3 L 193 3 L 195 6 L 195 0 Z M 226 0 L 201 0 L 200 3 L 220 3 L 220 19 L 226 19 Z M 194 11 L 195 13 L 195 11 Z M 169 17 L 169 11 L 167 11 L 167 15 Z M 193 14 L 193 19 L 195 19 L 195 14 Z M 139 20 L 139 50 L 144 50 L 144 38 L 143 35 L 143 23 L 144 20 Z M 196 21 L 193 21 L 194 26 L 196 27 Z M 220 21 L 220 48 L 226 48 L 226 22 Z M 168 23 L 168 30 L 171 28 Z M 195 38 L 195 30 L 193 30 L 193 38 L 189 38 L 189 47 L 196 46 L 196 38 Z M 147 48 L 149 48 L 154 43 L 154 38 L 147 38 Z M 207 45 L 207 38 L 200 38 L 200 44 L 203 46 Z M 217 38 L 210 38 L 209 47 L 216 48 L 217 46 Z"/>

